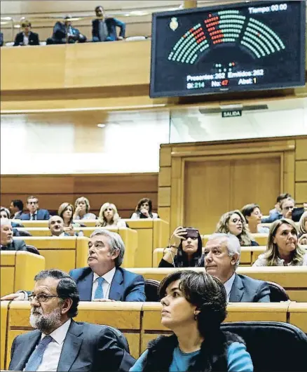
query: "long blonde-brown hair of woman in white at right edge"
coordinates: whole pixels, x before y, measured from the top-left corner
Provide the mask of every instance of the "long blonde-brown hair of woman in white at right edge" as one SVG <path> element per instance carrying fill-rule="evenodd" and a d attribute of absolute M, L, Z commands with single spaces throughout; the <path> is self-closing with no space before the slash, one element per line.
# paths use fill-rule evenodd
<path fill-rule="evenodd" d="M 285 223 L 294 228 L 297 236 L 297 228 L 295 222 L 289 220 L 289 218 L 280 218 L 272 223 L 270 231 L 268 232 L 268 244 L 266 245 L 266 251 L 264 252 L 264 259 L 267 262 L 268 266 L 277 265 L 277 259 L 279 257 L 278 245 L 274 243 L 274 238 L 279 227 Z M 292 263 L 293 265 L 299 265 L 303 256 L 305 255 L 305 249 L 301 248 L 299 244 L 296 245 L 295 251 L 293 251 Z"/>

